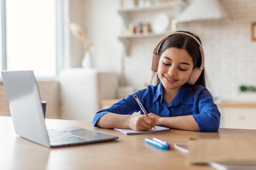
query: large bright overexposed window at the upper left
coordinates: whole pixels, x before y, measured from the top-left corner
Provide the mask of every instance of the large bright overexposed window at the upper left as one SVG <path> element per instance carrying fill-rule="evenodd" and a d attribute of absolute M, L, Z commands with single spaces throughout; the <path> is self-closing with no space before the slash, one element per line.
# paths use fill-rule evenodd
<path fill-rule="evenodd" d="M 4 56 L 1 57 L 2 65 L 6 64 L 7 70 L 31 69 L 37 77 L 55 77 L 59 60 L 56 33 L 59 35 L 62 32 L 56 31 L 60 28 L 56 24 L 59 23 L 56 22 L 56 16 L 60 16 L 56 13 L 59 12 L 59 0 L 3 1 L 6 14 L 6 61 L 3 60 Z"/>

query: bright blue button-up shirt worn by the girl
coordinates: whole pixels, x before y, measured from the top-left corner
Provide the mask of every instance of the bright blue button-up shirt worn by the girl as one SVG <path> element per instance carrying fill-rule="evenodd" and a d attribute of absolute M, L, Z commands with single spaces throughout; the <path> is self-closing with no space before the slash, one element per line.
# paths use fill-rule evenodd
<path fill-rule="evenodd" d="M 139 90 L 107 109 L 100 110 L 94 115 L 92 124 L 97 126 L 97 121 L 106 113 L 131 115 L 139 112 L 140 108 L 133 95 L 137 95 L 148 113 L 155 113 L 161 117 L 175 117 L 193 115 L 198 124 L 198 131 L 218 131 L 220 126 L 220 112 L 213 102 L 211 93 L 201 85 L 193 87 L 184 84 L 170 104 L 166 104 L 163 97 L 162 83 L 156 86 L 149 85 Z M 141 111 L 141 114 L 143 112 Z"/>

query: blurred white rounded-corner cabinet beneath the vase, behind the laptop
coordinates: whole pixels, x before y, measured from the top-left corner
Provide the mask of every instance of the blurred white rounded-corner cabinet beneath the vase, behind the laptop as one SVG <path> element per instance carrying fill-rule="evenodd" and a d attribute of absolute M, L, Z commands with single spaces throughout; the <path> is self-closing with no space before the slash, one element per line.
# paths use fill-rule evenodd
<path fill-rule="evenodd" d="M 91 121 L 100 101 L 116 97 L 118 75 L 95 69 L 70 68 L 59 75 L 61 119 Z"/>

